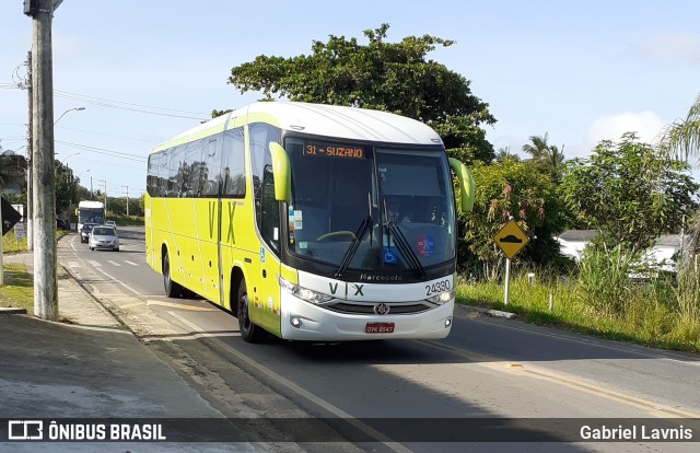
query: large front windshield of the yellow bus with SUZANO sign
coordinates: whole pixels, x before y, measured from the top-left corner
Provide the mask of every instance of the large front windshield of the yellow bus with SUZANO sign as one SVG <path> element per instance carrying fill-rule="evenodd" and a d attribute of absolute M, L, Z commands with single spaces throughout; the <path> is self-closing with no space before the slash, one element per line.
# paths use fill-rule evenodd
<path fill-rule="evenodd" d="M 455 257 L 452 178 L 441 148 L 288 138 L 288 247 L 358 271 L 422 272 Z"/>

